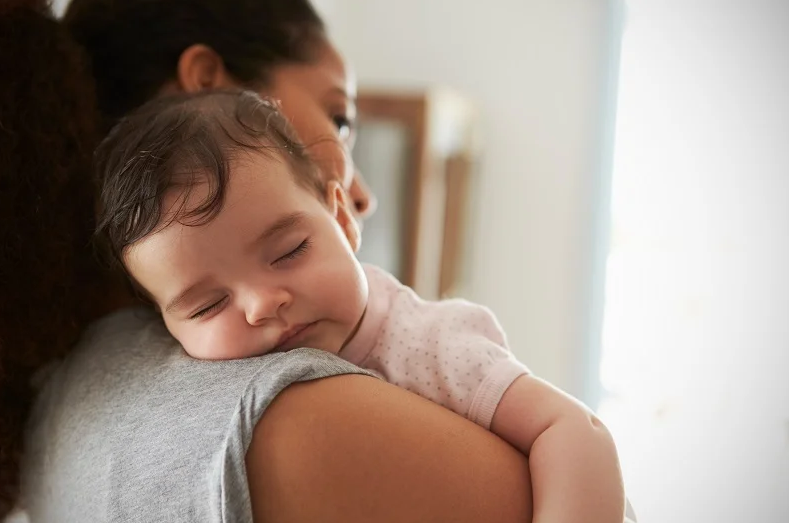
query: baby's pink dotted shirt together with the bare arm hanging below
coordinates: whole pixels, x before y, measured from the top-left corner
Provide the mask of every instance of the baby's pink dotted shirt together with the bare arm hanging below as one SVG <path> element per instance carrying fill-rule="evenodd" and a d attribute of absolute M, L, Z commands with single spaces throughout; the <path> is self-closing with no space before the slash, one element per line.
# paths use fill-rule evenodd
<path fill-rule="evenodd" d="M 360 360 L 354 350 L 340 356 L 529 455 L 536 522 L 622 523 L 622 480 L 605 427 L 569 396 L 526 375 L 490 310 L 464 300 L 428 302 L 380 269 L 365 271 L 367 318 L 376 317 L 372 310 L 385 320 L 372 351 L 362 347 Z"/>

